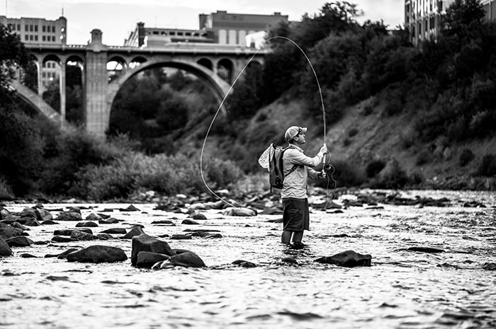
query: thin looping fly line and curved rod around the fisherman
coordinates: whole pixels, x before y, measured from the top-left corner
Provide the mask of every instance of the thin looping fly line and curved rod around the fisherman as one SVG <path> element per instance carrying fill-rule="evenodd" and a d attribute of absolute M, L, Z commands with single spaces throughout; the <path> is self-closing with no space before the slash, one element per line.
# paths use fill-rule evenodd
<path fill-rule="evenodd" d="M 300 50 L 300 52 L 305 56 L 305 58 L 307 59 L 307 62 L 308 64 L 310 64 L 310 68 L 312 69 L 312 72 L 313 72 L 313 75 L 315 76 L 315 81 L 317 82 L 317 86 L 319 88 L 319 95 L 320 95 L 320 103 L 322 105 L 322 122 L 323 122 L 323 125 L 324 125 L 324 144 L 325 144 L 325 141 L 326 141 L 326 135 L 327 135 L 327 131 L 326 131 L 326 122 L 325 122 L 325 106 L 324 106 L 324 98 L 322 96 L 322 88 L 320 88 L 320 83 L 319 83 L 319 79 L 317 79 L 317 73 L 315 72 L 315 69 L 313 68 L 312 66 L 312 62 L 310 62 L 310 59 L 308 58 L 307 54 L 305 54 L 305 52 L 303 51 L 303 49 L 301 49 L 301 47 L 296 43 L 294 42 L 293 40 L 291 40 L 290 38 L 288 37 L 281 37 L 281 36 L 274 36 L 274 37 L 269 37 L 266 42 L 269 42 L 270 40 L 272 39 L 283 39 L 283 40 L 288 40 L 290 42 L 293 43 L 293 45 L 295 45 L 296 47 L 298 47 L 298 50 Z M 203 175 L 203 153 L 205 151 L 205 144 L 207 142 L 207 138 L 208 138 L 208 134 L 210 133 L 210 129 L 212 129 L 212 126 L 213 126 L 213 122 L 215 122 L 215 118 L 218 116 L 220 110 L 222 109 L 222 106 L 224 105 L 225 103 L 225 100 L 227 99 L 227 96 L 229 95 L 229 93 L 232 91 L 232 88 L 235 86 L 235 84 L 237 83 L 239 77 L 243 74 L 244 70 L 248 67 L 248 65 L 252 62 L 252 60 L 254 59 L 255 56 L 257 56 L 257 54 L 259 53 L 259 51 L 261 50 L 261 47 L 252 55 L 252 57 L 249 59 L 249 61 L 247 62 L 247 64 L 244 65 L 243 69 L 239 72 L 239 74 L 237 75 L 235 81 L 232 82 L 229 90 L 227 91 L 227 93 L 225 93 L 225 96 L 224 98 L 222 99 L 222 102 L 220 102 L 220 105 L 219 105 L 219 108 L 217 109 L 217 112 L 215 112 L 215 115 L 213 116 L 213 119 L 212 119 L 212 122 L 210 122 L 210 126 L 208 126 L 208 130 L 207 130 L 207 134 L 205 135 L 205 139 L 203 140 L 203 146 L 201 146 L 201 154 L 200 154 L 200 173 L 201 173 L 201 179 L 203 180 L 203 184 L 205 184 L 205 187 L 207 187 L 207 189 L 210 191 L 210 193 L 212 193 L 213 195 L 215 195 L 215 197 L 217 197 L 219 200 L 222 200 L 222 202 L 225 202 L 226 204 L 229 204 L 231 207 L 235 207 L 237 209 L 239 209 L 239 207 L 236 207 L 234 204 L 228 202 L 227 200 L 224 200 L 222 197 L 220 197 L 219 195 L 217 195 L 215 192 L 213 192 L 213 190 L 210 189 L 210 187 L 208 187 L 208 184 L 205 182 L 205 176 Z M 324 159 L 323 159 L 323 162 L 324 164 L 325 163 L 325 156 L 324 156 Z M 334 188 L 332 189 L 332 194 L 334 195 L 335 197 L 335 193 L 334 193 L 334 190 L 336 189 L 337 187 L 337 182 L 336 180 L 334 180 L 334 178 L 332 178 L 332 174 L 334 173 L 335 169 L 334 167 L 328 163 L 328 166 L 329 166 L 329 171 L 330 171 L 330 168 L 332 168 L 332 171 L 329 175 L 327 175 L 327 191 L 329 190 L 329 178 L 332 179 L 332 181 L 334 182 Z M 333 197 L 333 199 L 334 199 Z M 328 195 L 328 192 L 327 192 L 327 200 L 329 199 L 329 195 Z M 327 201 L 328 202 L 328 201 Z M 327 207 L 327 204 L 326 204 L 326 207 Z M 242 212 L 245 212 L 243 209 L 240 209 Z M 247 213 L 247 212 L 245 212 Z M 248 214 L 248 213 L 247 213 Z"/>

